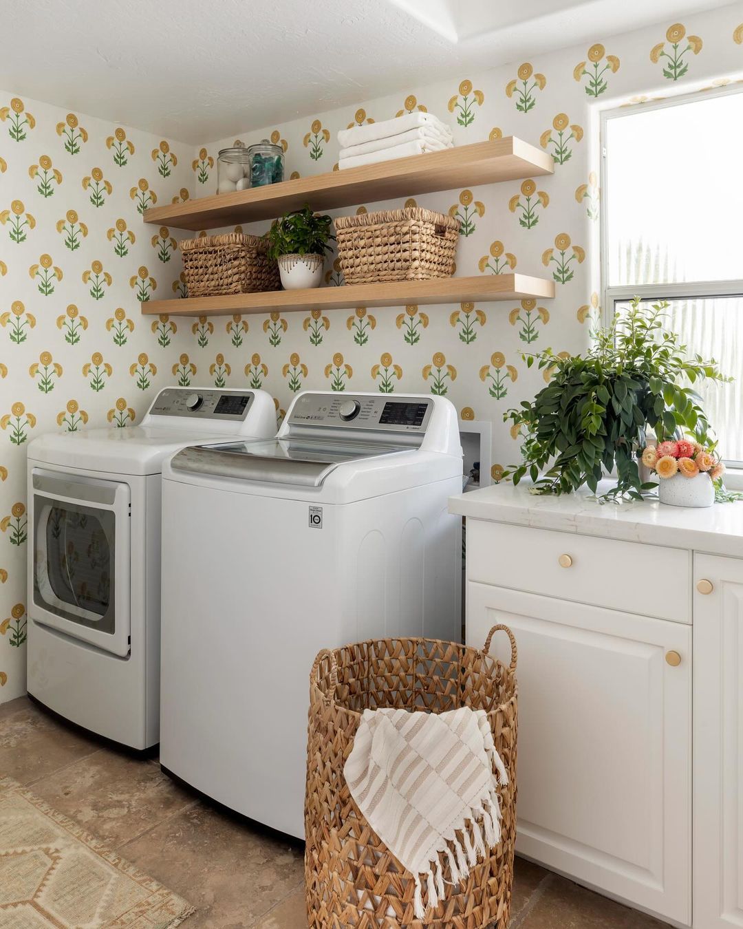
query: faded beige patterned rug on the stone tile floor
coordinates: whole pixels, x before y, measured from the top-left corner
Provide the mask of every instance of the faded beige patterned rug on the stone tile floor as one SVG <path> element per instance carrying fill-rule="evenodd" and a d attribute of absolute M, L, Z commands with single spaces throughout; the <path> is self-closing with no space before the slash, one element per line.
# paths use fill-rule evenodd
<path fill-rule="evenodd" d="M 0 779 L 0 929 L 171 929 L 193 907 Z"/>

